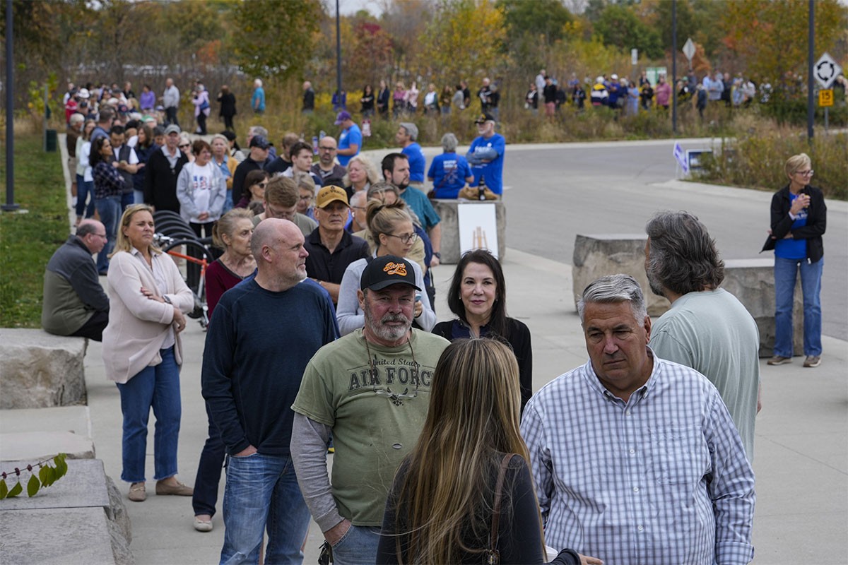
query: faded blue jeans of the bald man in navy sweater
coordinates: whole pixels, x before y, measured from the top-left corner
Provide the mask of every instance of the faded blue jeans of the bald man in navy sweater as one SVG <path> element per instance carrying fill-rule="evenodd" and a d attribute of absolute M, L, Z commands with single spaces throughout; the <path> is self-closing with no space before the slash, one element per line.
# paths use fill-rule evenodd
<path fill-rule="evenodd" d="M 224 489 L 224 547 L 220 565 L 259 562 L 268 530 L 265 563 L 302 563 L 300 551 L 310 511 L 300 494 L 292 458 L 254 453 L 227 457 Z"/>

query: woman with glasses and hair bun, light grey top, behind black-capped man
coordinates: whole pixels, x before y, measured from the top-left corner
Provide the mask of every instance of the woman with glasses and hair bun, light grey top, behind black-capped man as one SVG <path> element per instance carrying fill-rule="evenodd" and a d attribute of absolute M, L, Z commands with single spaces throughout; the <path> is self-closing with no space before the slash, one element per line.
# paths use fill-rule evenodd
<path fill-rule="evenodd" d="M 421 267 L 407 257 L 418 235 L 412 227 L 412 219 L 406 210 L 406 202 L 399 200 L 393 204 L 383 204 L 377 200 L 372 200 L 368 202 L 366 219 L 368 230 L 371 231 L 371 235 L 377 244 L 374 257 L 395 255 L 408 260 L 409 266 L 416 273 L 416 285 L 419 288 L 425 288 Z M 344 271 L 342 285 L 338 291 L 338 307 L 336 307 L 338 329 L 342 332 L 342 335 L 359 330 L 365 325 L 365 313 L 360 307 L 356 291 L 360 289 L 360 276 L 370 260 L 359 259 L 354 261 Z M 430 331 L 436 325 L 436 313 L 432 310 L 426 292 L 416 295 L 414 316 L 413 321 L 421 330 Z"/>

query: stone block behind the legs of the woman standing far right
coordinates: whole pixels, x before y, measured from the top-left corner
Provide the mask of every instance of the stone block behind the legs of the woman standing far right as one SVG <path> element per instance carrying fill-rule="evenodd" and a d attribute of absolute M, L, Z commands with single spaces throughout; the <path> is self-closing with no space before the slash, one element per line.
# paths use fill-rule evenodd
<path fill-rule="evenodd" d="M 728 259 L 724 262 L 722 288 L 733 293 L 756 320 L 760 330 L 760 357 L 774 353 L 774 258 Z M 801 280 L 795 281 L 792 307 L 792 346 L 804 353 L 804 298 Z"/>

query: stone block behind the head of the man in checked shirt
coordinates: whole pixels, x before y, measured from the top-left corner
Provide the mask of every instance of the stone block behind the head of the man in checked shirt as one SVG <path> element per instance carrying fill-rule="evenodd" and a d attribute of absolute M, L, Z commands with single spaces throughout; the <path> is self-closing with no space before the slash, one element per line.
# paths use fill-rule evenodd
<path fill-rule="evenodd" d="M 607 274 L 629 274 L 642 286 L 648 313 L 657 317 L 670 306 L 663 296 L 650 291 L 648 277 L 644 274 L 644 234 L 578 234 L 574 241 L 572 278 L 574 305 L 583 296 L 583 290 L 593 280 Z"/>

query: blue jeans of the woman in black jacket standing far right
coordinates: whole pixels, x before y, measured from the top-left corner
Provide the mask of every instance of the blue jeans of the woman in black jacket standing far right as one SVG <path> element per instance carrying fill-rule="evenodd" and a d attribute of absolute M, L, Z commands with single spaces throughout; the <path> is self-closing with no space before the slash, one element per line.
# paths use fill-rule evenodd
<path fill-rule="evenodd" d="M 824 258 L 816 263 L 806 259 L 774 258 L 774 354 L 792 357 L 792 305 L 795 280 L 801 270 L 801 292 L 804 296 L 804 355 L 822 354 L 822 268 Z"/>

